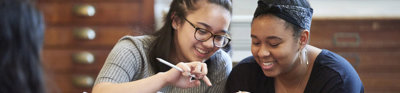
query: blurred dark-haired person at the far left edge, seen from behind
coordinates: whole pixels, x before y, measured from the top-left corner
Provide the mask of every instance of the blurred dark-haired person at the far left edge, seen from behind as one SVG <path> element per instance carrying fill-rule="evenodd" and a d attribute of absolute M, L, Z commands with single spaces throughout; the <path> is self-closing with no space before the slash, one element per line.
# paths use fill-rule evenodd
<path fill-rule="evenodd" d="M 43 93 L 42 14 L 29 0 L 0 0 L 0 93 Z"/>

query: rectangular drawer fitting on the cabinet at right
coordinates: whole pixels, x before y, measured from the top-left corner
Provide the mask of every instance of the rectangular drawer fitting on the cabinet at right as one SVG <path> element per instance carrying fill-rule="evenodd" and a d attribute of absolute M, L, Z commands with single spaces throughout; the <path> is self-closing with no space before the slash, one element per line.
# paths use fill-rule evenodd
<path fill-rule="evenodd" d="M 333 35 L 333 45 L 337 47 L 358 47 L 360 42 L 358 33 L 339 32 Z"/>

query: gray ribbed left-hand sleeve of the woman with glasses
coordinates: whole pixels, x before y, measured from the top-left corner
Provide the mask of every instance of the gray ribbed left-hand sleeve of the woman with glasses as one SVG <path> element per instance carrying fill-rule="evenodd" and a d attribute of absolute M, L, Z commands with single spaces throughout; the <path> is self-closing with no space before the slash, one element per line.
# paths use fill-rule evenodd
<path fill-rule="evenodd" d="M 109 53 L 95 84 L 129 82 L 140 70 L 140 53 L 130 40 L 121 40 Z"/>

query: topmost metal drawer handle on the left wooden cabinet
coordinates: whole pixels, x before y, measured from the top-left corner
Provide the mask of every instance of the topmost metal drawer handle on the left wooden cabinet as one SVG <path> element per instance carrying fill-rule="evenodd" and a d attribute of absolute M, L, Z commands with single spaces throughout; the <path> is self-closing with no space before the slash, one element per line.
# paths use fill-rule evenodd
<path fill-rule="evenodd" d="M 74 13 L 79 16 L 91 17 L 96 13 L 96 8 L 89 4 L 76 5 L 74 7 Z"/>

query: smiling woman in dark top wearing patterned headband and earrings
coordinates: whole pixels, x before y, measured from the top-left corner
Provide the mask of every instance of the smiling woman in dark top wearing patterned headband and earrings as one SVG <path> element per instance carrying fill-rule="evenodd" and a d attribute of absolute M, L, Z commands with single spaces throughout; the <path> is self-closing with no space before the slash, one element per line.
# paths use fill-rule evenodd
<path fill-rule="evenodd" d="M 306 0 L 259 0 L 251 24 L 253 56 L 232 70 L 226 92 L 364 92 L 346 59 L 308 45 L 312 13 Z"/>

